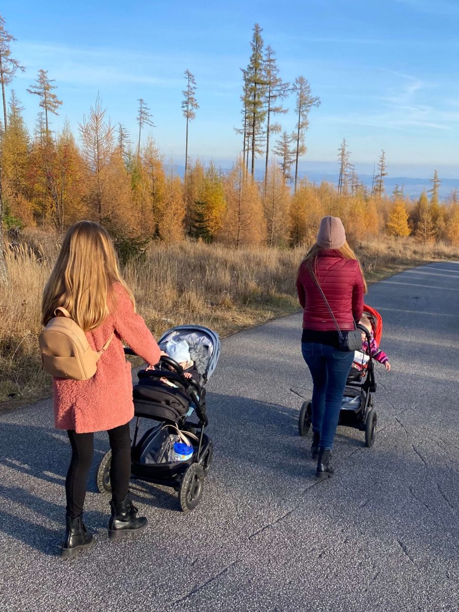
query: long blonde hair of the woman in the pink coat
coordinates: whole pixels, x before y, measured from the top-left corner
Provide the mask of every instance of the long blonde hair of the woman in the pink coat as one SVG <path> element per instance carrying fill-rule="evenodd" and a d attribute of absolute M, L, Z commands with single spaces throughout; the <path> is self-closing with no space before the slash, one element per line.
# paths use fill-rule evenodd
<path fill-rule="evenodd" d="M 118 258 L 106 230 L 92 221 L 75 223 L 65 234 L 43 290 L 43 325 L 62 306 L 85 332 L 99 327 L 110 313 L 110 304 L 113 305 L 114 283 L 125 287 L 135 307 L 134 297 L 119 273 Z"/>

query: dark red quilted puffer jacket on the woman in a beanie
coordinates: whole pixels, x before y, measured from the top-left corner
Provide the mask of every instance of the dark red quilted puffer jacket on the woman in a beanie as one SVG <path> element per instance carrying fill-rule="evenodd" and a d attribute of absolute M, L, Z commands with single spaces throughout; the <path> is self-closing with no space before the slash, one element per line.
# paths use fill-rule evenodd
<path fill-rule="evenodd" d="M 319 252 L 315 273 L 340 329 L 354 329 L 353 317 L 359 321 L 364 308 L 364 280 L 359 263 L 356 259 L 343 257 L 339 251 L 326 249 Z M 296 287 L 304 308 L 303 329 L 336 329 L 324 299 L 304 264 L 300 267 Z"/>

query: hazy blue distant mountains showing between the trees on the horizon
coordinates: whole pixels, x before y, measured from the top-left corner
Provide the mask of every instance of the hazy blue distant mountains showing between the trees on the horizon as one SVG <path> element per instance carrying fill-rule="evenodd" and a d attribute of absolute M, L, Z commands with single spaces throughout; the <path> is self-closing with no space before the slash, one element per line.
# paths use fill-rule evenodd
<path fill-rule="evenodd" d="M 230 163 L 218 163 L 223 171 L 227 171 L 231 169 Z M 185 166 L 177 165 L 176 166 L 177 173 L 183 178 L 185 173 Z M 257 181 L 262 181 L 264 177 L 264 170 L 261 168 L 256 168 L 255 170 L 255 179 Z M 320 184 L 323 181 L 332 183 L 334 185 L 338 184 L 338 173 L 333 173 L 330 171 L 320 171 L 316 169 L 308 170 L 299 170 L 298 177 L 300 179 L 307 178 L 308 181 Z M 360 181 L 363 181 L 367 187 L 371 188 L 371 183 L 373 182 L 372 174 L 359 174 Z M 441 200 L 447 200 L 452 190 L 457 188 L 459 191 L 459 178 L 458 179 L 441 179 L 441 185 L 439 188 L 439 197 Z M 427 192 L 432 184 L 430 182 L 430 178 L 413 178 L 409 176 L 386 176 L 384 178 L 384 185 L 386 187 L 387 195 L 392 195 L 394 191 L 395 185 L 398 185 L 399 188 L 403 185 L 403 192 L 405 196 L 408 198 L 419 198 L 423 191 Z"/>

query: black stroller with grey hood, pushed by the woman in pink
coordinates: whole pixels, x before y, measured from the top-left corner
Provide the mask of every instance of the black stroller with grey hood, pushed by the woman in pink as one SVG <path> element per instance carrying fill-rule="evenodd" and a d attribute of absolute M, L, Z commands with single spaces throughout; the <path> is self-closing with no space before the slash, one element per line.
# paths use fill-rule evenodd
<path fill-rule="evenodd" d="M 168 330 L 159 340 L 165 349 L 168 341 L 185 340 L 200 376 L 200 384 L 185 378 L 182 367 L 170 357 L 162 356 L 155 370 L 140 370 L 133 387 L 135 433 L 131 447 L 131 479 L 166 485 L 179 493 L 184 512 L 195 509 L 203 493 L 204 477 L 212 461 L 212 440 L 204 433 L 208 424 L 205 384 L 215 370 L 220 355 L 220 339 L 215 332 L 201 326 L 182 325 Z M 128 348 L 125 354 L 135 354 Z M 173 384 L 160 382 L 165 378 Z M 190 420 L 196 414 L 198 422 Z M 138 439 L 140 419 L 157 423 Z M 187 458 L 174 457 L 174 439 L 187 441 L 193 447 Z M 100 462 L 97 488 L 110 492 L 111 450 Z"/>

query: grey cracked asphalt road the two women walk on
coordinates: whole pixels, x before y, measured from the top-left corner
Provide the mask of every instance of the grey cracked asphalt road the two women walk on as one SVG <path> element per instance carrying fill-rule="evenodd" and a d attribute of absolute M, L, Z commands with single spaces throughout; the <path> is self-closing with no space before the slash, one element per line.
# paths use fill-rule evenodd
<path fill-rule="evenodd" d="M 0 610 L 435 612 L 459 610 L 459 263 L 373 285 L 392 371 L 377 371 L 375 447 L 338 428 L 336 475 L 316 482 L 297 417 L 312 384 L 300 316 L 223 341 L 208 385 L 214 463 L 197 509 L 134 485 L 151 523 L 62 561 L 69 444 L 49 401 L 0 417 Z M 97 435 L 95 465 L 108 448 Z"/>

